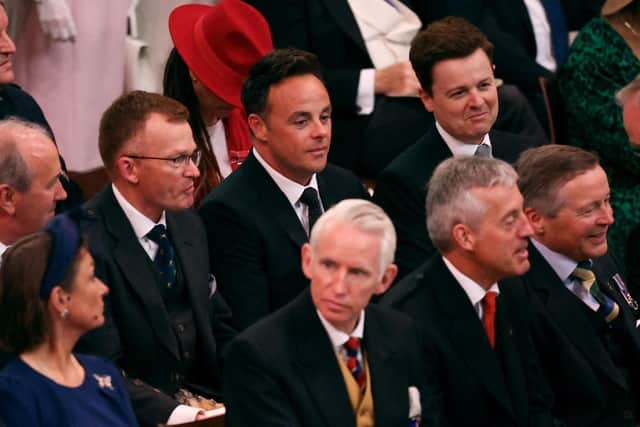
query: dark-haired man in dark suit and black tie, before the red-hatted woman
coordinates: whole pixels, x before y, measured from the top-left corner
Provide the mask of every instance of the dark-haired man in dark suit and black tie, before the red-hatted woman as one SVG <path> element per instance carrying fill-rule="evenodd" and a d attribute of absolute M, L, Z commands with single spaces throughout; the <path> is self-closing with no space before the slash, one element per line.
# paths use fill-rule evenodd
<path fill-rule="evenodd" d="M 300 247 L 319 214 L 342 199 L 367 198 L 351 173 L 327 165 L 331 103 L 317 58 L 277 49 L 242 89 L 253 150 L 200 208 L 211 268 L 244 329 L 308 285 Z"/>

